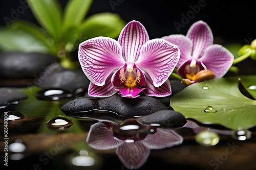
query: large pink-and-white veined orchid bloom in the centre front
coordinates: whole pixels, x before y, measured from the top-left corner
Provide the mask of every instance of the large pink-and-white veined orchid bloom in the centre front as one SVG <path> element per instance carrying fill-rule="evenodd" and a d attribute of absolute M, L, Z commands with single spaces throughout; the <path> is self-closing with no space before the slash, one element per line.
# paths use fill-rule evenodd
<path fill-rule="evenodd" d="M 171 94 L 168 77 L 172 74 L 180 50 L 164 39 L 149 40 L 144 26 L 131 21 L 118 40 L 95 37 L 79 45 L 79 62 L 91 81 L 88 94 L 108 97 L 119 91 L 126 98 L 142 92 L 148 96 Z"/>

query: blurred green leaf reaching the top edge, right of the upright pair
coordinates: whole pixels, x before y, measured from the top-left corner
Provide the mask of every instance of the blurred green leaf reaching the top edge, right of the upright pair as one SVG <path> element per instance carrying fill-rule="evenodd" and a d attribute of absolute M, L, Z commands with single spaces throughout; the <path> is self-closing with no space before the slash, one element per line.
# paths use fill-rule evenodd
<path fill-rule="evenodd" d="M 68 1 L 62 23 L 63 33 L 73 26 L 79 26 L 90 9 L 92 0 L 70 0 Z"/>

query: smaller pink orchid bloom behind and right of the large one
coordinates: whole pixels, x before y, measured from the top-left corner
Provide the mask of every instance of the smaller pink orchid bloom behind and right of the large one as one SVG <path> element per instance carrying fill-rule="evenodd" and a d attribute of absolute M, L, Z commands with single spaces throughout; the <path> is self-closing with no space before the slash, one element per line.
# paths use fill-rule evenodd
<path fill-rule="evenodd" d="M 179 46 L 180 60 L 177 74 L 188 84 L 198 82 L 197 74 L 209 70 L 210 78 L 223 77 L 233 63 L 233 55 L 222 45 L 213 44 L 214 37 L 206 22 L 195 22 L 184 35 L 164 36 L 165 39 Z"/>

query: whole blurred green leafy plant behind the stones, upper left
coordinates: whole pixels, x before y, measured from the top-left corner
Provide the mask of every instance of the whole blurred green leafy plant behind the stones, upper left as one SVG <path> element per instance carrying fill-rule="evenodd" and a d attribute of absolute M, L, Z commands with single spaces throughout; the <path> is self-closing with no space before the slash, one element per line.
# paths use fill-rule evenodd
<path fill-rule="evenodd" d="M 9 20 L 10 24 L 0 28 L 0 50 L 52 54 L 60 58 L 62 66 L 78 67 L 74 59 L 79 43 L 97 36 L 117 38 L 126 24 L 110 12 L 86 17 L 92 2 L 70 0 L 62 9 L 57 0 L 27 0 L 40 26 L 22 19 Z"/>

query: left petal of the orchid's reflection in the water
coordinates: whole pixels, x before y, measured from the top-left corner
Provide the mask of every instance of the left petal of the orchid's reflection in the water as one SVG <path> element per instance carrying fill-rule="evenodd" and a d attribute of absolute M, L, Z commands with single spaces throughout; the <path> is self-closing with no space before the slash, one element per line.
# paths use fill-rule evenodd
<path fill-rule="evenodd" d="M 86 141 L 91 148 L 97 150 L 117 148 L 123 143 L 123 141 L 115 140 L 113 129 L 107 128 L 103 123 L 96 123 L 91 126 Z"/>

